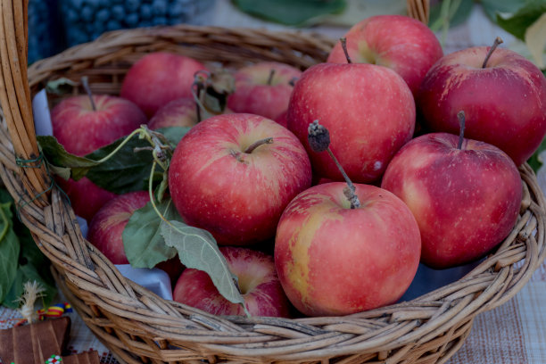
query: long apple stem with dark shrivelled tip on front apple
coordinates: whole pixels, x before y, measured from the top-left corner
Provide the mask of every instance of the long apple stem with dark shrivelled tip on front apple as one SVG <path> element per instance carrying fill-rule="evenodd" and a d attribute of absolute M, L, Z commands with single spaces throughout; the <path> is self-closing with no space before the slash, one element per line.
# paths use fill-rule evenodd
<path fill-rule="evenodd" d="M 308 133 L 309 145 L 313 152 L 319 153 L 327 151 L 332 160 L 334 160 L 337 169 L 341 172 L 347 183 L 347 187 L 343 188 L 343 194 L 351 203 L 351 208 L 358 209 L 360 207 L 360 200 L 355 194 L 356 187 L 352 184 L 351 178 L 347 176 L 347 173 L 343 170 L 343 166 L 337 161 L 337 158 L 335 158 L 334 153 L 332 153 L 332 150 L 330 149 L 330 132 L 323 125 L 318 124 L 318 120 L 315 120 L 309 124 Z"/>

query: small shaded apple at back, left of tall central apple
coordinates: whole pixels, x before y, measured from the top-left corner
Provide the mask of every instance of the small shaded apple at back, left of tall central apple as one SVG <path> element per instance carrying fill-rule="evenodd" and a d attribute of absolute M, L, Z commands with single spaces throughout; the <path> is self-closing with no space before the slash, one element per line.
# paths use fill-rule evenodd
<path fill-rule="evenodd" d="M 294 88 L 291 82 L 301 76 L 301 70 L 278 62 L 243 67 L 236 71 L 236 90 L 227 97 L 227 107 L 234 112 L 249 112 L 276 120 L 288 107 Z"/>

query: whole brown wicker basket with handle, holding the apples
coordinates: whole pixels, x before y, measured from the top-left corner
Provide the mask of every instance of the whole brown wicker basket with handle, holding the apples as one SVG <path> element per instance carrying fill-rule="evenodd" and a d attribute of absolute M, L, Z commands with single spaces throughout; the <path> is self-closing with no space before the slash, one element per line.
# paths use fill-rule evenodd
<path fill-rule="evenodd" d="M 273 60 L 305 68 L 324 61 L 333 42 L 256 29 L 121 30 L 27 70 L 22 3 L 0 0 L 0 176 L 19 202 L 21 220 L 53 262 L 64 294 L 122 362 L 441 363 L 462 345 L 476 315 L 507 302 L 546 256 L 546 202 L 524 165 L 521 214 L 509 237 L 466 277 L 411 302 L 347 317 L 285 319 L 217 317 L 165 301 L 122 277 L 87 243 L 43 165 L 26 162 L 21 168 L 16 162 L 38 157 L 30 96 L 48 80 L 78 81 L 83 75 L 96 93 L 115 94 L 130 64 L 151 51 L 203 62 Z M 426 2 L 410 3 L 410 9 L 426 14 Z"/>

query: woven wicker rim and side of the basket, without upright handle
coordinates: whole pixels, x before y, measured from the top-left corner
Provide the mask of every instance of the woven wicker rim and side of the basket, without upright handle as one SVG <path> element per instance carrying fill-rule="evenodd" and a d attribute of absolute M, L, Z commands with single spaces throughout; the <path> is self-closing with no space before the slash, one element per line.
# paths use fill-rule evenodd
<path fill-rule="evenodd" d="M 206 40 L 207 35 L 216 34 L 214 31 L 222 32 L 224 38 L 225 34 L 240 37 L 244 39 L 240 40 L 241 44 L 249 42 L 252 47 L 260 43 L 252 43 L 252 39 L 264 38 L 270 42 L 324 42 L 325 49 L 332 44 L 327 39 L 302 33 L 262 29 L 242 31 L 181 25 L 121 30 L 34 63 L 29 68 L 29 85 L 36 91 L 56 72 L 85 71 L 86 67 L 92 69 L 97 63 L 98 66 L 108 64 L 112 61 L 104 58 L 108 54 L 121 54 L 122 58 L 127 42 L 135 49 L 138 42 L 145 43 L 142 39 L 163 42 L 164 39 L 201 35 Z M 93 53 L 94 48 L 99 48 L 100 52 Z M 2 118 L 4 120 L 4 115 Z M 15 162 L 5 120 L 2 126 L 0 176 L 12 196 L 27 196 L 28 200 L 27 191 L 32 189 Z M 388 358 L 392 362 L 401 358 L 444 361 L 462 344 L 473 318 L 508 301 L 546 256 L 546 202 L 530 167 L 525 164 L 520 173 L 525 186 L 523 217 L 497 252 L 451 285 L 410 302 L 339 318 L 217 317 L 178 302 L 165 301 L 121 277 L 112 263 L 84 241 L 73 211 L 56 188 L 47 203 L 36 200 L 22 206 L 21 220 L 31 229 L 40 249 L 54 262 L 58 282 L 65 294 L 76 302 L 75 307 L 87 326 L 126 362 L 136 361 L 120 348 L 129 348 L 142 358 L 167 360 L 174 358 L 167 354 L 170 344 L 185 349 L 187 345 L 194 345 L 190 350 L 194 352 L 193 357 L 181 353 L 176 360 L 202 358 L 214 362 L 217 360 L 214 358 L 219 357 L 248 362 L 307 362 L 354 356 L 352 360 L 355 361 L 347 359 L 347 362 L 361 362 L 358 360 L 368 357 Z M 520 266 L 516 268 L 516 264 Z M 458 339 L 448 345 L 438 339 L 441 335 Z M 434 346 L 431 344 L 434 340 L 440 343 Z M 147 346 L 143 348 L 143 345 Z M 432 353 L 434 350 L 438 353 Z"/>

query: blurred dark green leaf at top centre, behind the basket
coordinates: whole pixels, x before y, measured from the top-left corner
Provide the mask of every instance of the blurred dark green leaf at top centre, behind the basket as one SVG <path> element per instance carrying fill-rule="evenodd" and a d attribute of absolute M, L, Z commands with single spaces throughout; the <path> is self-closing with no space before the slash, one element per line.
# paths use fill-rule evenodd
<path fill-rule="evenodd" d="M 344 0 L 232 0 L 242 12 L 285 25 L 304 23 L 345 9 Z"/>

